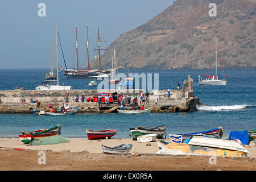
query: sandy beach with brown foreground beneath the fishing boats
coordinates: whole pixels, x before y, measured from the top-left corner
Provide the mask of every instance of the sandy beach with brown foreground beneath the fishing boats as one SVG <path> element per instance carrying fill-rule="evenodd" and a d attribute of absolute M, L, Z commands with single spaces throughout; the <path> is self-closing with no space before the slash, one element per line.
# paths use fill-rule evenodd
<path fill-rule="evenodd" d="M 210 164 L 209 156 L 155 155 L 158 151 L 156 142 L 150 142 L 148 146 L 148 143 L 139 143 L 131 138 L 68 139 L 67 143 L 27 146 L 19 138 L 0 138 L 0 170 L 256 170 L 256 147 L 246 147 L 251 152 L 249 158 L 217 158 L 216 164 Z M 102 152 L 101 144 L 117 146 L 122 143 L 133 144 L 129 154 L 107 155 Z M 46 152 L 46 164 L 40 165 L 38 154 L 42 150 Z"/>

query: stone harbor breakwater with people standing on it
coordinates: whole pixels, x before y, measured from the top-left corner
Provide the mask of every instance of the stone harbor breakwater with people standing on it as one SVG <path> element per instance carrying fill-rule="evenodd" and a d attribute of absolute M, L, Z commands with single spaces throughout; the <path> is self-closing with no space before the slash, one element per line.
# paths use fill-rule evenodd
<path fill-rule="evenodd" d="M 170 92 L 168 92 L 170 91 Z M 97 102 L 86 102 L 87 98 L 95 96 L 98 93 L 117 93 L 129 95 L 131 97 L 138 96 L 141 92 L 146 93 L 142 89 L 133 90 L 0 90 L 0 113 L 31 113 L 33 110 L 46 110 L 48 105 L 53 108 L 60 109 L 63 106 L 65 97 L 68 93 L 70 107 L 80 105 L 78 113 L 115 113 L 119 107 L 116 103 L 98 106 Z M 71 98 L 79 96 L 79 102 L 71 102 Z M 85 101 L 81 102 L 84 95 Z M 158 104 L 155 105 L 155 96 L 159 96 Z M 180 90 L 153 90 L 150 93 L 150 104 L 145 106 L 147 109 L 151 107 L 152 113 L 160 112 L 177 112 L 177 111 L 195 111 L 196 105 L 200 105 L 199 98 L 193 95 L 193 79 L 183 81 L 183 88 Z M 22 99 L 25 103 L 22 103 Z M 30 100 L 34 103 L 31 103 Z M 131 109 L 126 106 L 126 109 Z"/>

